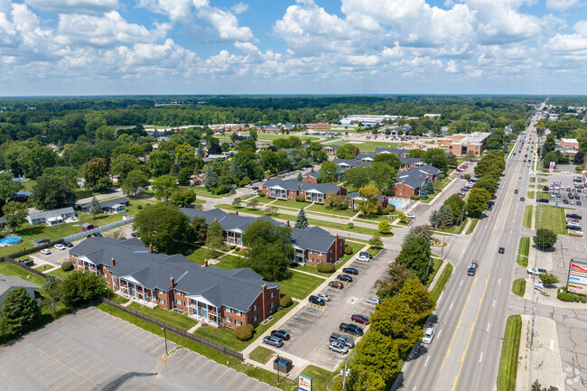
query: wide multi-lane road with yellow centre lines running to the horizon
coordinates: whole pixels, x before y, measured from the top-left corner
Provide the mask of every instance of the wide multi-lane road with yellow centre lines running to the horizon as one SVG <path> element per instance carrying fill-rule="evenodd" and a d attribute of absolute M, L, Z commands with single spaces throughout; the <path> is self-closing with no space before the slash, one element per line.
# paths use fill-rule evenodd
<path fill-rule="evenodd" d="M 452 279 L 429 320 L 436 332 L 433 342 L 413 349 L 393 390 L 496 388 L 524 215 L 525 202 L 520 196 L 526 194 L 530 171 L 523 161 L 532 156 L 529 149 L 536 140 L 536 121 L 533 117 L 515 145 L 515 151 L 521 147 L 522 154 L 507 161 L 493 209 L 485 212 L 474 235 L 462 237 L 467 243 L 461 256 L 452 259 Z M 523 146 L 522 139 L 526 141 Z M 505 247 L 505 254 L 498 254 L 499 247 Z M 466 270 L 472 260 L 477 260 L 479 267 L 476 275 L 469 276 Z"/>

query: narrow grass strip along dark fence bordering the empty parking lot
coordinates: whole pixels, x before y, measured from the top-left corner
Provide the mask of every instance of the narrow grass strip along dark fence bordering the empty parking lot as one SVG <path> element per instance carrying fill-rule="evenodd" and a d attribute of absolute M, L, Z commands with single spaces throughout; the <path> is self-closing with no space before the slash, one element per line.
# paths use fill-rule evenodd
<path fill-rule="evenodd" d="M 98 304 L 98 309 L 103 312 L 108 312 L 116 318 L 120 318 L 124 321 L 128 321 L 130 323 L 135 324 L 136 326 L 140 327 L 141 329 L 151 331 L 152 333 L 163 337 L 163 330 L 160 327 L 155 326 L 148 321 L 143 321 L 142 319 L 136 318 L 133 315 L 130 315 L 126 312 L 122 312 L 116 308 L 113 308 L 112 311 L 108 311 L 108 304 L 102 303 Z M 276 384 L 275 374 L 272 372 L 268 372 L 261 368 L 251 367 L 245 364 L 244 362 L 238 360 L 237 358 L 228 357 L 225 354 L 220 353 L 218 350 L 208 348 L 204 345 L 201 345 L 198 342 L 193 340 L 188 340 L 186 338 L 182 338 L 179 335 L 167 330 L 167 339 L 175 342 L 186 349 L 193 350 L 201 355 L 213 359 L 214 361 L 224 364 L 230 368 L 237 370 L 238 372 L 242 372 L 243 374 L 249 377 L 255 377 L 256 379 L 266 382 L 271 386 L 275 386 L 275 388 L 282 389 L 284 391 L 289 391 L 293 386 L 293 381 L 289 379 L 284 379 L 281 382 L 281 385 Z"/>

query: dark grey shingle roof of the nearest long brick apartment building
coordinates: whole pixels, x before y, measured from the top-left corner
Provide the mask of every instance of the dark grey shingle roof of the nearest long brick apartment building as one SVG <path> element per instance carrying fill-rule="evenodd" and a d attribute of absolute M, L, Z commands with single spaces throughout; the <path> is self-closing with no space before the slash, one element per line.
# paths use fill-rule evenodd
<path fill-rule="evenodd" d="M 132 277 L 145 288 L 163 291 L 174 289 L 188 296 L 202 296 L 216 306 L 227 305 L 246 312 L 263 284 L 267 283 L 250 269 L 223 270 L 201 267 L 185 256 L 150 253 L 138 239 L 117 240 L 111 237 L 89 237 L 70 249 L 75 256 L 85 256 L 95 265 L 107 265 L 118 277 Z M 115 265 L 112 266 L 112 258 Z"/>

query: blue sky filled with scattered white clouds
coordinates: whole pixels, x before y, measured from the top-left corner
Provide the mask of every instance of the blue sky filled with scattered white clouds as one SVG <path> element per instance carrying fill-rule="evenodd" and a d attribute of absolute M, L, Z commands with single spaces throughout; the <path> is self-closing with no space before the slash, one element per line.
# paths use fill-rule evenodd
<path fill-rule="evenodd" d="M 0 95 L 585 94 L 586 0 L 0 0 Z"/>

